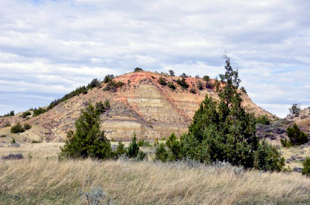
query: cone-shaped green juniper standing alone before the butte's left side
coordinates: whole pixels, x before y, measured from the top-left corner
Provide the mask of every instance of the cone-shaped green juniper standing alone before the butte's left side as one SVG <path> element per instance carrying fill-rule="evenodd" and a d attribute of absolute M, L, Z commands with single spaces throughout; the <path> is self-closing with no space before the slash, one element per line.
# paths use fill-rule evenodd
<path fill-rule="evenodd" d="M 64 147 L 61 147 L 59 158 L 112 158 L 110 141 L 100 130 L 101 120 L 96 109 L 90 104 L 81 111 L 76 120 L 76 132 L 69 131 Z"/>

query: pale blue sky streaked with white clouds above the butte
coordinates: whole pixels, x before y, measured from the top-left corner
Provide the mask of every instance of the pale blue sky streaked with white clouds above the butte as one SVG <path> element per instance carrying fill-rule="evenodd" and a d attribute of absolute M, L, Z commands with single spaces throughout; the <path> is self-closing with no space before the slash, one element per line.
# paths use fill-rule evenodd
<path fill-rule="evenodd" d="M 0 115 L 135 67 L 223 74 L 256 105 L 310 106 L 310 1 L 0 0 Z"/>

